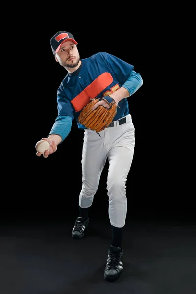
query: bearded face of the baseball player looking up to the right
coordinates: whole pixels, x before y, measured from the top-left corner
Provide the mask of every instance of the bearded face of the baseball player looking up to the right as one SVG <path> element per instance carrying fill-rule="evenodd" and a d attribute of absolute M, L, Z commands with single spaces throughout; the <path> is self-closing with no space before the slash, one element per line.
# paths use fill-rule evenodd
<path fill-rule="evenodd" d="M 55 54 L 55 59 L 66 69 L 77 67 L 80 56 L 76 44 L 71 41 L 64 42 L 59 51 Z"/>

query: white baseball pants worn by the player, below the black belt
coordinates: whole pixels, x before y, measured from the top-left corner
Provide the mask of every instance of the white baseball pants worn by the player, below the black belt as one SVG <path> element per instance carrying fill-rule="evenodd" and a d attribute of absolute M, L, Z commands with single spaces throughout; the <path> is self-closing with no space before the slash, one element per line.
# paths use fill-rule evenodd
<path fill-rule="evenodd" d="M 126 123 L 108 127 L 98 133 L 84 130 L 82 151 L 82 189 L 79 205 L 90 207 L 98 189 L 101 172 L 108 158 L 107 195 L 110 223 L 118 228 L 125 225 L 127 213 L 126 180 L 133 160 L 135 128 L 130 114 Z"/>

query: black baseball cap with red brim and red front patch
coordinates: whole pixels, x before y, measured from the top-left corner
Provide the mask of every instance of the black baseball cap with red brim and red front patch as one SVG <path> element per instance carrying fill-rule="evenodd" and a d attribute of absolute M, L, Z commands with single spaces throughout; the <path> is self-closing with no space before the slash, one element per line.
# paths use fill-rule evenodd
<path fill-rule="evenodd" d="M 57 32 L 51 39 L 50 39 L 50 45 L 52 48 L 52 52 L 55 55 L 61 47 L 61 44 L 66 41 L 73 41 L 77 45 L 77 42 L 75 41 L 73 35 L 69 32 L 65 31 L 59 31 Z"/>

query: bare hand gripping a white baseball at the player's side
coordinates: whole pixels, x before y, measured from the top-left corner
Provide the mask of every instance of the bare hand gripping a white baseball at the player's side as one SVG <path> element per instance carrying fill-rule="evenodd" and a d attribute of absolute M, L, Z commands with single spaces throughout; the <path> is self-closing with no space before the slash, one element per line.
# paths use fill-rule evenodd
<path fill-rule="evenodd" d="M 55 141 L 51 141 L 48 138 L 42 138 L 42 140 L 36 143 L 35 149 L 37 151 L 36 155 L 38 157 L 43 155 L 44 158 L 47 158 L 49 154 L 56 152 L 57 146 Z"/>

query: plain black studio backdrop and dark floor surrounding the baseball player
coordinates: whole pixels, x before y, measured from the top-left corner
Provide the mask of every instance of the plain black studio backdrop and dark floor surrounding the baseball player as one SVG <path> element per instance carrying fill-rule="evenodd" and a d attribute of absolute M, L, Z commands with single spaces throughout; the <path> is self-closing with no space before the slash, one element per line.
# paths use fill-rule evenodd
<path fill-rule="evenodd" d="M 188 56 L 178 56 L 186 46 L 184 22 L 176 21 L 182 14 L 149 2 L 8 5 L 1 26 L 0 292 L 195 293 L 195 132 L 185 109 L 190 97 L 181 93 L 190 77 L 182 62 Z M 67 74 L 49 44 L 59 30 L 73 34 L 81 58 L 106 51 L 134 65 L 144 81 L 128 98 L 136 144 L 126 183 L 124 270 L 114 285 L 103 281 L 111 242 L 108 164 L 85 237 L 74 240 L 83 131 L 73 122 L 56 153 L 36 156 L 35 144 L 57 116 L 56 92 Z"/>

